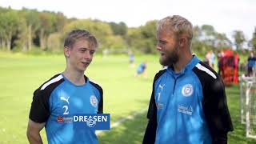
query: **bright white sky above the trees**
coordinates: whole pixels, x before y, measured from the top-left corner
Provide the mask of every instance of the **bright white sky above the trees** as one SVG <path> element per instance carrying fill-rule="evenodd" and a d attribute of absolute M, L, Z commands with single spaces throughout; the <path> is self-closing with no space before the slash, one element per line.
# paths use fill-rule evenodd
<path fill-rule="evenodd" d="M 178 14 L 194 26 L 212 25 L 229 38 L 234 30 L 242 30 L 247 40 L 256 26 L 256 0 L 0 0 L 0 6 L 60 11 L 68 18 L 97 18 L 127 26 Z"/>

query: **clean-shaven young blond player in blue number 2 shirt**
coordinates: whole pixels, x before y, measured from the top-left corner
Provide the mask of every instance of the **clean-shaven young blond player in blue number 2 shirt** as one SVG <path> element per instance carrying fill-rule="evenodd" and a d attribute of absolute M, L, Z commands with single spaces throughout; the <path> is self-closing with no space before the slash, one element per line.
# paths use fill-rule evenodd
<path fill-rule="evenodd" d="M 30 143 L 42 143 L 43 127 L 48 143 L 98 143 L 94 130 L 76 129 L 74 122 L 63 120 L 68 114 L 102 113 L 102 87 L 84 75 L 97 47 L 97 39 L 86 30 L 72 30 L 66 36 L 66 70 L 34 91 L 27 127 Z"/>

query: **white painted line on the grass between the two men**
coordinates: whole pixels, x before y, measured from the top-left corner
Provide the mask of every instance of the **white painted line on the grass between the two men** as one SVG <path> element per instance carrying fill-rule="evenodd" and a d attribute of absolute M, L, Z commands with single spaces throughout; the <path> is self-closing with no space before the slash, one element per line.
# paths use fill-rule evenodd
<path fill-rule="evenodd" d="M 134 114 L 128 115 L 128 116 L 125 117 L 125 118 L 119 119 L 117 122 L 110 123 L 110 130 L 113 129 L 114 127 L 117 127 L 117 126 L 121 125 L 123 122 L 126 122 L 126 121 L 128 121 L 128 120 L 134 119 L 137 115 L 140 115 L 140 114 L 142 114 L 142 113 L 144 113 L 144 112 L 146 112 L 146 111 L 147 111 L 147 109 L 142 109 L 142 110 L 140 110 L 140 111 L 138 111 L 138 112 L 135 112 Z M 97 134 L 97 135 L 102 134 L 102 132 L 104 132 L 104 131 L 105 131 L 105 130 L 97 130 L 97 131 L 96 131 L 96 134 Z"/>

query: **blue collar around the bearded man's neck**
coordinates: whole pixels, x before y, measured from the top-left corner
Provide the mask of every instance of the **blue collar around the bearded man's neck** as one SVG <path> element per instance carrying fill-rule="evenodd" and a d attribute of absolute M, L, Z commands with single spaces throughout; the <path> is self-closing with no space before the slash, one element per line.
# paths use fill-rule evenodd
<path fill-rule="evenodd" d="M 173 66 L 168 66 L 167 72 L 174 76 L 174 78 L 178 78 L 179 76 L 185 74 L 187 71 L 192 70 L 194 66 L 198 64 L 198 62 L 200 62 L 198 57 L 196 55 L 193 55 L 193 58 L 190 60 L 190 62 L 187 63 L 186 66 L 184 66 L 184 68 L 179 73 L 175 73 Z"/>

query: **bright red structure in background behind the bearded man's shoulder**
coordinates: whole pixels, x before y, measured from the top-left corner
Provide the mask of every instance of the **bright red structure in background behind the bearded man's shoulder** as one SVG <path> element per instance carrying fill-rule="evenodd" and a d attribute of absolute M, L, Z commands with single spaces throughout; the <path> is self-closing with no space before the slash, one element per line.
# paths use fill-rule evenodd
<path fill-rule="evenodd" d="M 234 51 L 230 49 L 223 50 L 220 58 L 220 75 L 226 86 L 238 83 L 238 61 L 238 54 L 234 54 Z"/>

